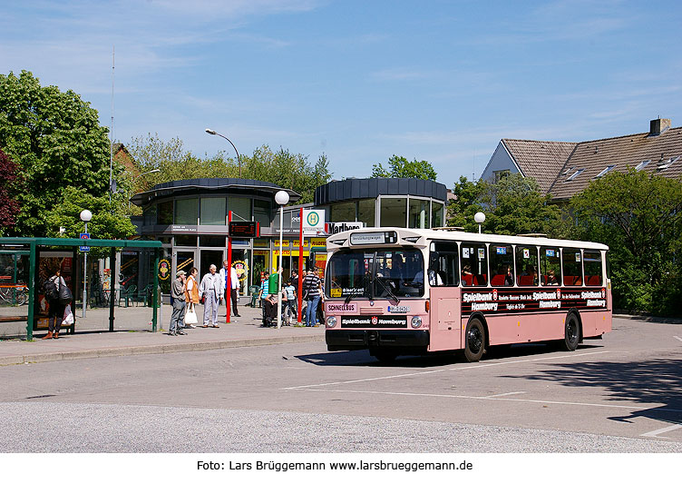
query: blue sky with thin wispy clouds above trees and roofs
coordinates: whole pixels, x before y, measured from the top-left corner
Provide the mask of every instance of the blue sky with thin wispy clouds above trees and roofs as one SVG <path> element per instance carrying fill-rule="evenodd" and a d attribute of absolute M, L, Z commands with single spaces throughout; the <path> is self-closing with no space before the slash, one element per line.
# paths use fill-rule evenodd
<path fill-rule="evenodd" d="M 204 155 L 268 144 L 336 179 L 393 154 L 452 187 L 502 138 L 585 141 L 682 125 L 682 4 L 565 0 L 5 0 L 0 72 L 29 70 Z"/>

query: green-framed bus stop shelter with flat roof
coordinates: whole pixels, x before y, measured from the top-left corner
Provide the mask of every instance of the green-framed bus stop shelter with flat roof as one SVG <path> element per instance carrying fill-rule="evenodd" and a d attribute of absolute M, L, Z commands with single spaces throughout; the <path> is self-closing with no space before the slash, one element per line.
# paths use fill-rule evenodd
<path fill-rule="evenodd" d="M 106 247 L 110 248 L 110 267 L 112 268 L 112 294 L 109 298 L 109 331 L 113 331 L 114 306 L 116 298 L 113 297 L 115 275 L 119 272 L 116 265 L 117 249 L 145 249 L 153 251 L 154 268 L 159 267 L 161 255 L 160 241 L 137 241 L 137 240 L 107 240 L 107 239 L 65 239 L 65 238 L 31 238 L 31 237 L 0 237 L 0 252 L 24 254 L 28 259 L 28 274 L 25 282 L 28 290 L 28 314 L 26 321 L 26 340 L 33 340 L 34 316 L 36 299 L 38 297 L 40 281 L 36 268 L 38 266 L 39 250 L 44 248 L 62 248 L 75 251 L 77 247 Z M 73 294 L 74 299 L 76 294 Z M 159 295 L 159 272 L 153 271 L 153 282 L 151 283 L 151 331 L 157 331 L 157 306 L 160 302 Z M 87 301 L 83 301 L 87 304 Z"/>

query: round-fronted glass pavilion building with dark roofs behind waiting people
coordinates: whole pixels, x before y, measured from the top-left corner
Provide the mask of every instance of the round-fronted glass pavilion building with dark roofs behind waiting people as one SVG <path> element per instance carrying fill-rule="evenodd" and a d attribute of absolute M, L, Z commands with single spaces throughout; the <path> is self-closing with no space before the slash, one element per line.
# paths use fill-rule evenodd
<path fill-rule="evenodd" d="M 131 202 L 142 209 L 137 221 L 140 235 L 162 242 L 163 261 L 169 273 L 197 267 L 200 274 L 209 265 L 221 267 L 227 257 L 228 213 L 233 221 L 258 222 L 254 239 L 232 238 L 231 259 L 242 282 L 242 295 L 259 284 L 264 272 L 281 265 L 288 279 L 298 267 L 299 250 L 309 267 L 326 262 L 328 233 L 350 226 L 420 227 L 443 226 L 446 188 L 443 183 L 407 178 L 371 178 L 334 181 L 319 186 L 315 202 L 288 205 L 283 210 L 283 243 L 279 246 L 279 216 L 275 193 L 285 190 L 289 201 L 300 195 L 274 183 L 237 178 L 208 178 L 160 183 L 136 193 Z M 330 222 L 325 231 L 307 233 L 299 243 L 300 210 L 324 212 Z M 123 254 L 133 261 L 134 253 Z M 122 267 L 126 261 L 122 261 Z M 133 271 L 137 265 L 130 264 Z M 136 277 L 136 274 L 123 274 Z M 170 282 L 168 282 L 170 288 Z M 163 289 L 163 283 L 161 285 Z M 164 292 L 166 290 L 164 289 Z"/>

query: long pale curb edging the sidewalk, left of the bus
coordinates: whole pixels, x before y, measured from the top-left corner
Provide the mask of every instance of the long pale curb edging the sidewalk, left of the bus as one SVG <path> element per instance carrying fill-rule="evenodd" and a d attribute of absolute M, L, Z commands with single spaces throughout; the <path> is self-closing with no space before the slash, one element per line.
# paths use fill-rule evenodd
<path fill-rule="evenodd" d="M 132 356 L 140 354 L 178 353 L 182 351 L 210 351 L 226 348 L 249 346 L 269 346 L 273 344 L 305 343 L 325 341 L 324 334 L 310 336 L 287 336 L 279 338 L 253 338 L 249 340 L 204 341 L 176 344 L 155 344 L 149 346 L 125 346 L 99 350 L 63 351 L 0 357 L 0 366 L 21 365 L 24 363 L 46 363 L 49 361 L 83 360 L 87 358 L 107 358 L 111 356 Z"/>

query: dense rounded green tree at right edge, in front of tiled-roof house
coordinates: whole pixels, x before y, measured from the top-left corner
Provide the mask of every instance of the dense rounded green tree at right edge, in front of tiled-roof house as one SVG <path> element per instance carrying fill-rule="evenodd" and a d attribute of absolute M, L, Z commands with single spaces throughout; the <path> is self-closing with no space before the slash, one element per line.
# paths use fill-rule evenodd
<path fill-rule="evenodd" d="M 580 238 L 609 245 L 618 307 L 682 312 L 682 180 L 613 172 L 590 182 L 570 208 Z"/>

